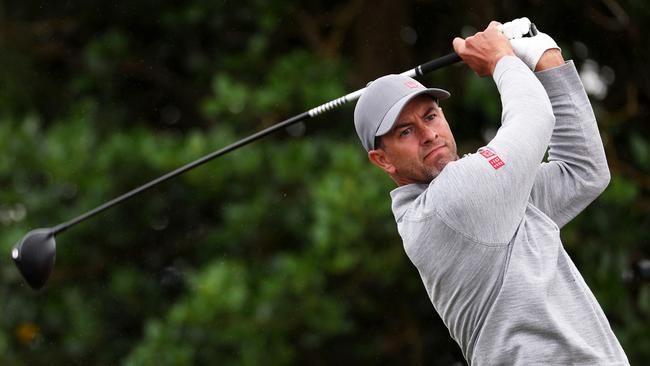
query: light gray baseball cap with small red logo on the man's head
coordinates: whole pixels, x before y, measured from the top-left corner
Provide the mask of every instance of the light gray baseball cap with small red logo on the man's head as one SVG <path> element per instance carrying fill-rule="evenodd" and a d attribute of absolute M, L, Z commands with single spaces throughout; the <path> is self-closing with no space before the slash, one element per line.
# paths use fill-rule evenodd
<path fill-rule="evenodd" d="M 404 106 L 420 94 L 437 100 L 450 95 L 405 75 L 386 75 L 370 83 L 354 108 L 354 127 L 366 151 L 375 149 L 375 137 L 388 133 Z"/>

